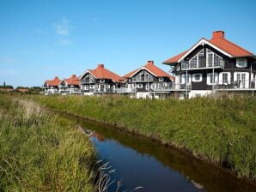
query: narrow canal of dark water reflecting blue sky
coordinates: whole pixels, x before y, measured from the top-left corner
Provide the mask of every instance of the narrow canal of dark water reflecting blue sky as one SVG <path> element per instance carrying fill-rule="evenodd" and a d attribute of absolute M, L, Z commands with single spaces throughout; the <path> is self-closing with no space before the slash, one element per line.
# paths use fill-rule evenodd
<path fill-rule="evenodd" d="M 91 139 L 101 160 L 109 161 L 116 180 L 109 191 L 256 191 L 254 183 L 236 179 L 229 172 L 192 158 L 143 136 L 106 125 L 77 120 L 82 129 L 94 131 Z"/>

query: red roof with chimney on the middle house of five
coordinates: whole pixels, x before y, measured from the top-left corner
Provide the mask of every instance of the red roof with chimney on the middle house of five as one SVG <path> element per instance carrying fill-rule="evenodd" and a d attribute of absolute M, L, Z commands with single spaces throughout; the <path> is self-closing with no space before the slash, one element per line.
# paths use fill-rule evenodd
<path fill-rule="evenodd" d="M 96 69 L 88 69 L 88 70 L 86 70 L 81 75 L 81 78 L 82 78 L 82 76 L 84 76 L 87 73 L 90 73 L 96 79 L 108 79 L 108 80 L 112 80 L 114 82 L 121 82 L 122 81 L 121 76 L 119 76 L 119 75 L 113 73 L 112 71 L 104 68 L 104 64 L 98 64 Z"/>

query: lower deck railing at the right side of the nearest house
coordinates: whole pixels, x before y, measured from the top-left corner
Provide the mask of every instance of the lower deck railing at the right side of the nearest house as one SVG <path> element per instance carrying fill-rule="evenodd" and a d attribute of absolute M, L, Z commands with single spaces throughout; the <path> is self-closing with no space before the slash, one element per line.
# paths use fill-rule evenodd
<path fill-rule="evenodd" d="M 256 81 L 233 81 L 228 83 L 216 82 L 216 90 L 255 90 L 256 91 Z"/>

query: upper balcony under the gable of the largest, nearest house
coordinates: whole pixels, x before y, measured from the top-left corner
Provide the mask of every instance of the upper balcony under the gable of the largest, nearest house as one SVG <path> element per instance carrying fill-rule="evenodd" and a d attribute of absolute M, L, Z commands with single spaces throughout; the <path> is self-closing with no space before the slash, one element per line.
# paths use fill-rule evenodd
<path fill-rule="evenodd" d="M 207 63 L 205 59 L 200 59 L 198 63 L 189 63 L 188 61 L 181 63 L 181 70 L 194 70 L 194 69 L 223 69 L 224 62 Z"/>

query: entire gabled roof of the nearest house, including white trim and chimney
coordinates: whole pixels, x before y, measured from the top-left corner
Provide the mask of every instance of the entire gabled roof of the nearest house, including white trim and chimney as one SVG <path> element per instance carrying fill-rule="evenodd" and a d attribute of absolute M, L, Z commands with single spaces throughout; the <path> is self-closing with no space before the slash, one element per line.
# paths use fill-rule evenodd
<path fill-rule="evenodd" d="M 223 31 L 213 32 L 212 38 L 210 40 L 200 39 L 197 44 L 193 45 L 187 51 L 181 52 L 179 55 L 169 58 L 164 61 L 163 64 L 179 63 L 184 57 L 186 57 L 191 51 L 198 47 L 198 45 L 208 44 L 215 48 L 217 51 L 221 51 L 224 55 L 228 57 L 251 57 L 253 53 L 247 51 L 239 45 L 235 45 L 228 39 L 225 39 L 225 33 Z"/>

